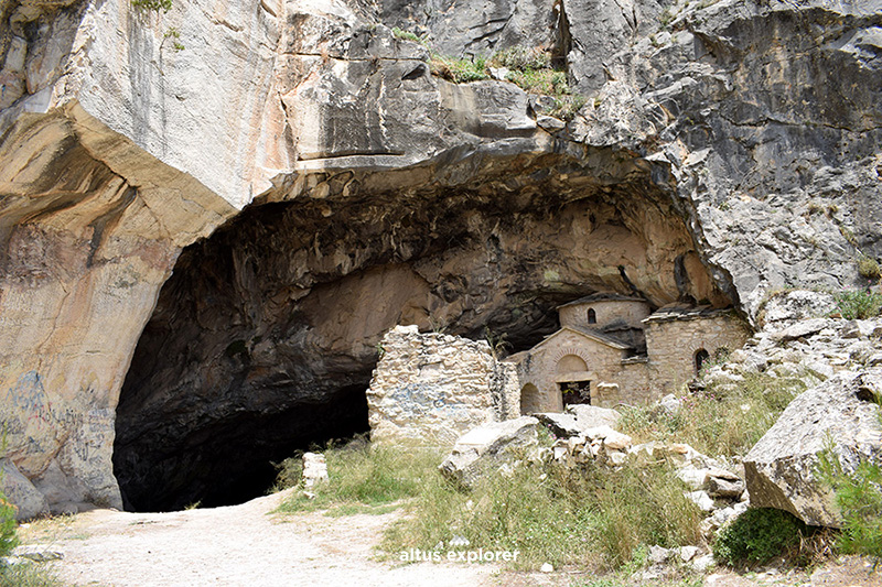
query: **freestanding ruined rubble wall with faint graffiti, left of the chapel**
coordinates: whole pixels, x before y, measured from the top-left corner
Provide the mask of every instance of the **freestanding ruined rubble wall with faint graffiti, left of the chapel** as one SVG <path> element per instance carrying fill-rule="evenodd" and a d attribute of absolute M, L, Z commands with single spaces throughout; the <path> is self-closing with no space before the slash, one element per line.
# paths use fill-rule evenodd
<path fill-rule="evenodd" d="M 374 442 L 450 445 L 475 426 L 519 415 L 515 368 L 483 340 L 397 326 L 381 347 L 367 390 Z"/>

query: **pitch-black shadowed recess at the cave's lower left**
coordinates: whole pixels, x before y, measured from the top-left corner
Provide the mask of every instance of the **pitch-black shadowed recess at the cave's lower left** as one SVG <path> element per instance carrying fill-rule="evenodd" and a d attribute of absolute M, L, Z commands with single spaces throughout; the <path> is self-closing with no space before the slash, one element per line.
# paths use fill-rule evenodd
<path fill-rule="evenodd" d="M 172 450 L 152 452 L 147 464 L 117 446 L 114 469 L 127 511 L 235 506 L 270 492 L 286 458 L 368 431 L 365 387 L 356 385 L 327 403 L 226 416 L 180 438 Z"/>

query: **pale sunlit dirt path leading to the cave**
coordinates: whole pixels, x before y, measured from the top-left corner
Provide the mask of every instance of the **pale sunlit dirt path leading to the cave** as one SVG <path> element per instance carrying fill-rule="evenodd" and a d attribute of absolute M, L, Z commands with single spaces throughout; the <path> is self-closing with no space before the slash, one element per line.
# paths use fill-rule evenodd
<path fill-rule="evenodd" d="M 383 529 L 400 513 L 270 514 L 286 494 L 170 513 L 96 510 L 35 522 L 22 534 L 64 554 L 56 569 L 72 585 L 499 585 L 498 568 L 488 564 L 377 561 Z"/>

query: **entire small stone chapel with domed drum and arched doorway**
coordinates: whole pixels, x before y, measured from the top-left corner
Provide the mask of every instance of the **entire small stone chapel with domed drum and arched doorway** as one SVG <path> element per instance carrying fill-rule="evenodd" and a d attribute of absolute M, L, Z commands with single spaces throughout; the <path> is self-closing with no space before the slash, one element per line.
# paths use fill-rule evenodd
<path fill-rule="evenodd" d="M 517 366 L 523 414 L 656 400 L 750 336 L 729 309 L 671 304 L 652 312 L 643 298 L 615 294 L 583 297 L 558 312 L 560 330 L 506 359 Z"/>

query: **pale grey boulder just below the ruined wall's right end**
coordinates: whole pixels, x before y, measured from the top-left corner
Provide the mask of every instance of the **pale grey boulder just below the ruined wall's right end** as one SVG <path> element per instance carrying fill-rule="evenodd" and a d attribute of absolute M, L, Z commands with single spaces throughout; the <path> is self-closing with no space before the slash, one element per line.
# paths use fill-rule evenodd
<path fill-rule="evenodd" d="M 483 475 L 535 452 L 539 444 L 538 424 L 535 417 L 521 416 L 473 428 L 456 441 L 439 470 L 451 481 L 471 489 Z"/>

